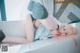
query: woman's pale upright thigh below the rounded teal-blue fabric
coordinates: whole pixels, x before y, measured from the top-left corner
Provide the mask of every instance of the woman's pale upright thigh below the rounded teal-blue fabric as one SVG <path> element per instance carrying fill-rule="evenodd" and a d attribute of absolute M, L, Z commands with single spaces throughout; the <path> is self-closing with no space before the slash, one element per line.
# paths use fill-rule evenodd
<path fill-rule="evenodd" d="M 27 41 L 32 42 L 34 37 L 34 28 L 31 16 L 28 14 L 25 21 L 25 33 Z"/>

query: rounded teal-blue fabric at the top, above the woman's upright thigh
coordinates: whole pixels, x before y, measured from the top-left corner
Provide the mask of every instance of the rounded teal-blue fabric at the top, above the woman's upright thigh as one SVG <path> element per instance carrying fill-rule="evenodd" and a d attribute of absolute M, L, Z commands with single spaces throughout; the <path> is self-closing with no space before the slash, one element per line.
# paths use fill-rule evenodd
<path fill-rule="evenodd" d="M 48 16 L 46 8 L 39 2 L 31 0 L 28 9 L 32 12 L 34 19 L 45 19 Z"/>

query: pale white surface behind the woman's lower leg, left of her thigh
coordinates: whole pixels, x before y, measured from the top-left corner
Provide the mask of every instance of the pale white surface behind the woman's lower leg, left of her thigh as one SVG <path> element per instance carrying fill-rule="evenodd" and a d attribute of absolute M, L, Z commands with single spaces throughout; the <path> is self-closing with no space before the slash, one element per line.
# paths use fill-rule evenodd
<path fill-rule="evenodd" d="M 0 21 L 0 29 L 6 36 L 25 36 L 24 21 Z"/>

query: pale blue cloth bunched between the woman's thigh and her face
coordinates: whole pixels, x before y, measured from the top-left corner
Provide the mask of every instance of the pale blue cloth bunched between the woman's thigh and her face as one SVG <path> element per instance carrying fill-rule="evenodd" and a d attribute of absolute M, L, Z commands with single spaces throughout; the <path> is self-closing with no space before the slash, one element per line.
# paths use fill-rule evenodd
<path fill-rule="evenodd" d="M 47 39 L 48 37 L 51 37 L 50 31 L 41 24 L 36 30 L 35 40 Z"/>

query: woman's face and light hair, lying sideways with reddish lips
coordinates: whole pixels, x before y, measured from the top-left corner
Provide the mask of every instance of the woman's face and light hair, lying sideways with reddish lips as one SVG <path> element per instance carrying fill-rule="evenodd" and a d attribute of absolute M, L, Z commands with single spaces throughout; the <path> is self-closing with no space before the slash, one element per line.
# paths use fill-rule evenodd
<path fill-rule="evenodd" d="M 53 35 L 56 36 L 69 36 L 76 34 L 76 28 L 72 27 L 71 25 L 64 25 L 57 30 L 52 32 Z"/>

